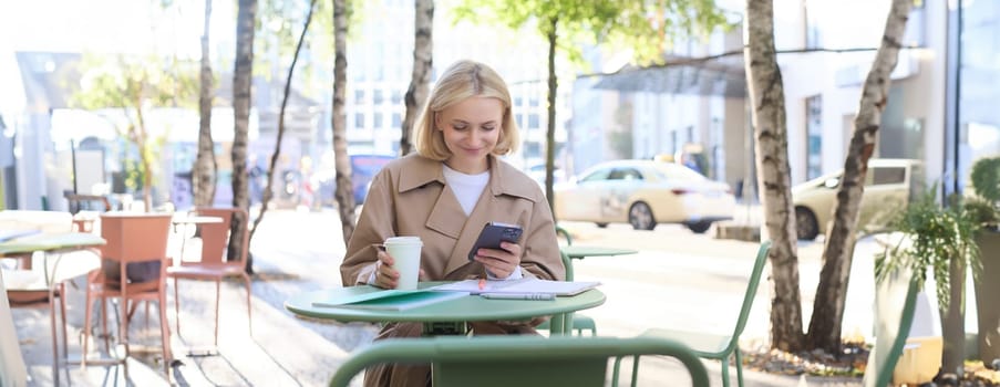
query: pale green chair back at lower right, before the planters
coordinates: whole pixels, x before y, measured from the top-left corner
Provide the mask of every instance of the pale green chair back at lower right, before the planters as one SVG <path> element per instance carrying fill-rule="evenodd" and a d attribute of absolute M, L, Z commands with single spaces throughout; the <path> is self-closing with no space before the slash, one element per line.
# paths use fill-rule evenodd
<path fill-rule="evenodd" d="M 908 271 L 896 271 L 876 283 L 875 348 L 868 354 L 864 386 L 887 386 L 893 378 L 914 325 L 919 290 L 919 280 Z"/>

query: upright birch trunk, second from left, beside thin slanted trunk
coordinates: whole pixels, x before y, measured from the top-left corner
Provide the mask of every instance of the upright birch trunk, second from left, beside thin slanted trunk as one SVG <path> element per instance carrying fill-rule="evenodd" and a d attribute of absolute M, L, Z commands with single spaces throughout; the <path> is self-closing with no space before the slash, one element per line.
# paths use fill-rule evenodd
<path fill-rule="evenodd" d="M 257 19 L 257 0 L 239 0 L 236 17 L 236 64 L 233 70 L 233 207 L 249 211 L 249 192 L 247 191 L 247 140 L 250 122 L 251 80 L 254 74 L 254 24 Z M 231 233 L 239 236 L 248 220 L 241 215 L 234 215 Z M 229 260 L 236 260 L 243 249 L 243 239 L 229 239 Z M 247 272 L 252 273 L 252 258 L 247 254 Z"/>

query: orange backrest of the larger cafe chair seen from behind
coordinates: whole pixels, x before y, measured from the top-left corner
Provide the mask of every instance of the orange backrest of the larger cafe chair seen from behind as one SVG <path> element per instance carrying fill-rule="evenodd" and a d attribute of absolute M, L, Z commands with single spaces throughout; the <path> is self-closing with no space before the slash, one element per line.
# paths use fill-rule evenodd
<path fill-rule="evenodd" d="M 123 262 L 157 261 L 167 257 L 169 213 L 105 212 L 101 215 L 104 258 Z"/>

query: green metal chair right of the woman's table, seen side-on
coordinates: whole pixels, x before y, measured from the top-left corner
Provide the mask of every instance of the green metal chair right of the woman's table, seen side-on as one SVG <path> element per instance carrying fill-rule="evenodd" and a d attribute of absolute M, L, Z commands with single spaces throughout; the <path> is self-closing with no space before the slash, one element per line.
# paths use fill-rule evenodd
<path fill-rule="evenodd" d="M 729 386 L 729 362 L 731 357 L 735 358 L 736 381 L 738 386 L 743 386 L 743 358 L 740 354 L 740 335 L 746 327 L 746 318 L 750 316 L 750 310 L 753 306 L 753 299 L 757 293 L 757 285 L 761 282 L 761 274 L 764 265 L 767 263 L 767 252 L 771 250 L 771 241 L 764 241 L 757 249 L 757 257 L 753 263 L 753 270 L 750 273 L 750 283 L 746 284 L 746 293 L 743 294 L 743 305 L 740 307 L 740 314 L 736 317 L 736 326 L 733 328 L 732 335 L 714 335 L 703 332 L 684 332 L 652 328 L 646 331 L 640 337 L 659 337 L 676 339 L 691 347 L 694 353 L 703 358 L 722 360 L 722 385 Z M 621 359 L 615 362 L 615 374 L 617 378 L 618 367 Z M 639 374 L 639 362 L 632 364 L 632 384 Z"/>

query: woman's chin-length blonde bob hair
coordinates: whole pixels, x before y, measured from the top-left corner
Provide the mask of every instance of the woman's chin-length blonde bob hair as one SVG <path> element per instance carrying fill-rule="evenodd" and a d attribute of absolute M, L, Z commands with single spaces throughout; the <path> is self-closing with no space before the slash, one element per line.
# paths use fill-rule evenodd
<path fill-rule="evenodd" d="M 416 153 L 439 161 L 451 157 L 452 153 L 444 144 L 444 134 L 435 127 L 434 117 L 441 111 L 474 96 L 497 98 L 504 105 L 499 139 L 493 154 L 503 156 L 516 150 L 519 137 L 511 114 L 511 92 L 507 91 L 507 84 L 489 66 L 463 60 L 444 71 L 421 109 L 414 126 Z"/>

